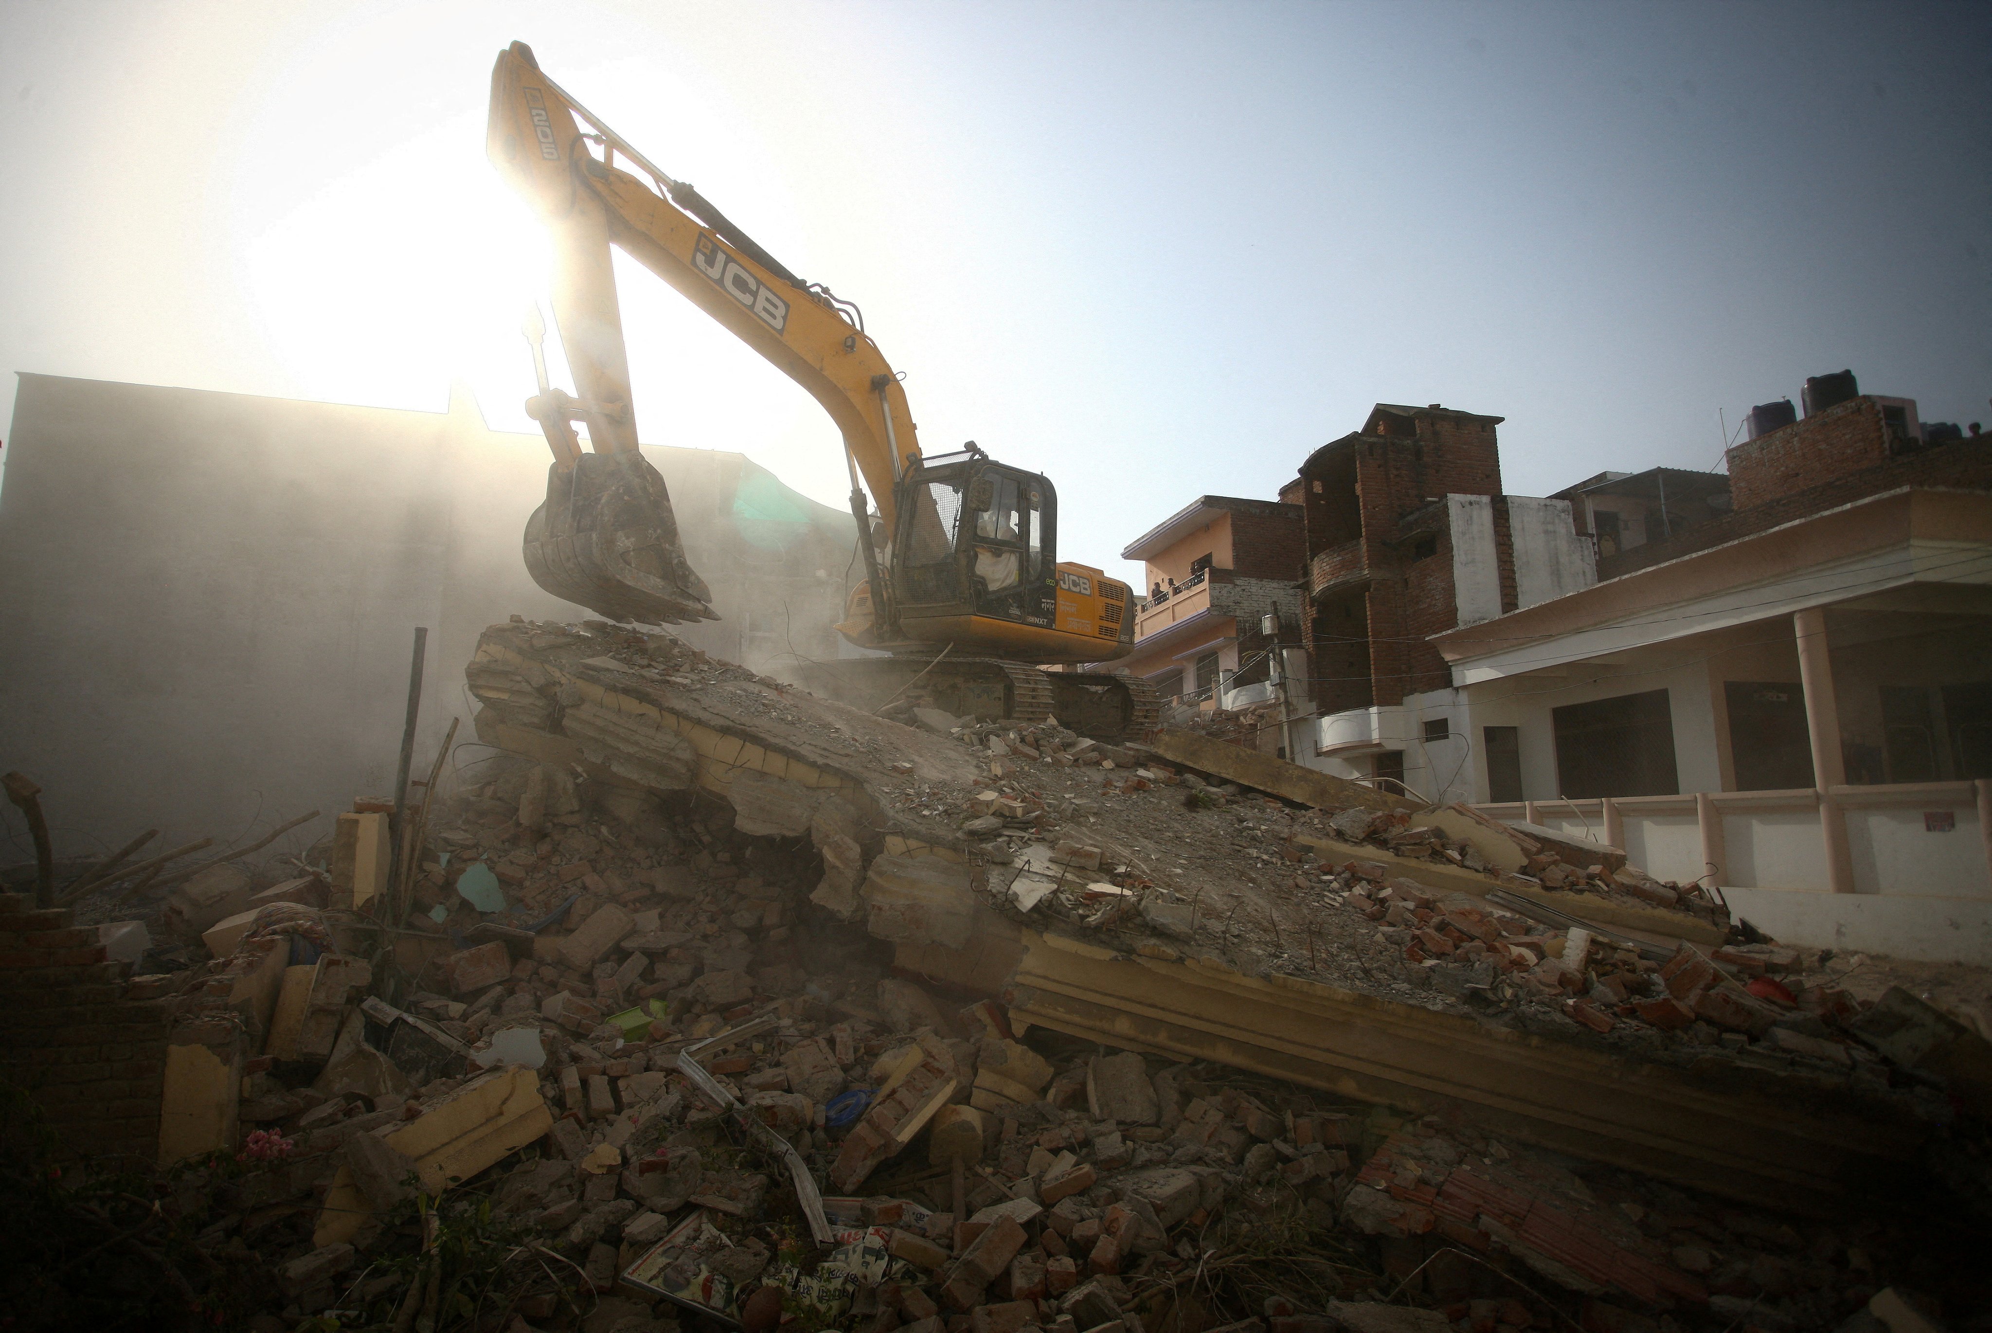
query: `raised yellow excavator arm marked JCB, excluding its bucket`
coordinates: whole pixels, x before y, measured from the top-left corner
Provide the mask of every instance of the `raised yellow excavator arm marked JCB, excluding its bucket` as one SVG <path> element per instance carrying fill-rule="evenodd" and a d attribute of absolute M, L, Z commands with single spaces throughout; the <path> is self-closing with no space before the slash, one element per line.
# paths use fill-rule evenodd
<path fill-rule="evenodd" d="M 853 496 L 863 474 L 886 532 L 896 528 L 894 480 L 908 456 L 918 458 L 920 446 L 898 377 L 859 319 L 841 309 L 843 303 L 789 273 L 691 185 L 671 179 L 629 147 L 546 78 L 524 42 L 500 52 L 492 70 L 486 151 L 554 233 L 554 319 L 580 397 L 542 393 L 528 406 L 548 432 L 556 474 L 564 466 L 600 466 L 588 464 L 578 450 L 570 452 L 574 436 L 568 418 L 588 424 L 598 454 L 641 462 L 629 359 L 610 267 L 610 247 L 616 245 L 823 404 L 843 432 Z M 622 169 L 618 157 L 643 175 Z M 659 490 L 661 484 L 659 478 Z M 667 506 L 665 498 L 669 522 Z M 863 534 L 863 512 L 859 522 Z M 671 536 L 675 542 L 675 524 Z M 861 544 L 871 552 L 869 540 Z M 528 564 L 530 548 L 528 530 Z M 880 584 L 872 574 L 876 588 Z M 703 602 L 703 584 L 699 594 Z"/>

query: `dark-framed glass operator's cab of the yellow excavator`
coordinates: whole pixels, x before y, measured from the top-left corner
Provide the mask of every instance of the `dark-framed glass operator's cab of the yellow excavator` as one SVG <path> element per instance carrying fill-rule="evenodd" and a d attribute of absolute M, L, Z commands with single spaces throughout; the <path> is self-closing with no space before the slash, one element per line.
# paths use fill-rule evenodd
<path fill-rule="evenodd" d="M 1058 492 L 970 442 L 908 458 L 892 588 L 902 620 L 988 616 L 1052 626 L 1058 614 Z"/>

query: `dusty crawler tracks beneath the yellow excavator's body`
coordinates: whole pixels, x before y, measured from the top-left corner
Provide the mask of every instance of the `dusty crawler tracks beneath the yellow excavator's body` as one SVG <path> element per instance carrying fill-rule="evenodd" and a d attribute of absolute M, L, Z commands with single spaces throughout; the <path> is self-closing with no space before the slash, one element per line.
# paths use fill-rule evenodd
<path fill-rule="evenodd" d="M 1002 658 L 847 658 L 819 662 L 801 675 L 809 689 L 865 711 L 920 695 L 956 717 L 1018 723 L 1058 717 L 1096 741 L 1143 739 L 1161 717 L 1161 695 L 1145 679 L 1040 671 Z"/>

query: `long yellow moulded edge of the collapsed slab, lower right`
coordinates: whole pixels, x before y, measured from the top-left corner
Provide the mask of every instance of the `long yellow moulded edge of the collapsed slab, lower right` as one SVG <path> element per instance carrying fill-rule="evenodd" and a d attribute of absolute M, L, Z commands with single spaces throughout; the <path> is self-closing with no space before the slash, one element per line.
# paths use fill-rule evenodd
<path fill-rule="evenodd" d="M 1898 1174 L 1922 1132 L 1835 1080 L 1725 1060 L 1645 1064 L 1295 976 L 1129 958 L 1024 931 L 1012 1024 L 1217 1060 L 1777 1211 L 1845 1209 Z M 1022 1028 L 1020 1028 L 1022 1034 Z"/>

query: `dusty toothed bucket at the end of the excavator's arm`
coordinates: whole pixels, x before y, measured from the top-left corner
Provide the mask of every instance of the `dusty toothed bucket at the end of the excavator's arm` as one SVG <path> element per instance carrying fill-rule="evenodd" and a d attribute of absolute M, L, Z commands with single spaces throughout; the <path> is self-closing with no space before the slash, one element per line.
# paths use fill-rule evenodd
<path fill-rule="evenodd" d="M 719 620 L 677 542 L 671 494 L 635 452 L 584 452 L 572 468 L 548 468 L 546 504 L 526 520 L 526 570 L 608 620 Z"/>

